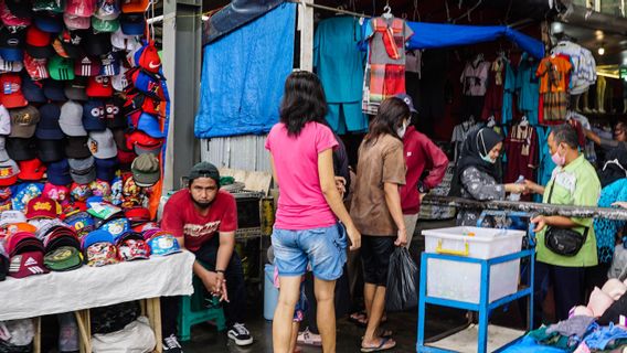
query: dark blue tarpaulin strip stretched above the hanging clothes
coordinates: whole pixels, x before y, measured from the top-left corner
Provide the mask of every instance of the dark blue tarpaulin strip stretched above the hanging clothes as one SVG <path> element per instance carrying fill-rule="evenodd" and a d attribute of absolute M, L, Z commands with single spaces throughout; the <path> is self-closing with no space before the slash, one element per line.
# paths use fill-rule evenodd
<path fill-rule="evenodd" d="M 407 24 L 414 31 L 414 35 L 407 43 L 408 49 L 469 45 L 490 42 L 504 36 L 534 57 L 544 57 L 544 45 L 541 41 L 507 25 L 458 25 L 408 21 Z"/>

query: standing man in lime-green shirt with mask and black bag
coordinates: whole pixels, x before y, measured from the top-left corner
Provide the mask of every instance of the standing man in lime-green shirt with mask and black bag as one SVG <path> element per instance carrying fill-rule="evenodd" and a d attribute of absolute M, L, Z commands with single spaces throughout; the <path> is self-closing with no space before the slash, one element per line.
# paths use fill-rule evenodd
<path fill-rule="evenodd" d="M 557 165 L 544 188 L 525 181 L 529 192 L 543 195 L 543 203 L 575 206 L 596 206 L 601 182 L 594 167 L 578 152 L 577 133 L 568 125 L 554 127 L 548 139 L 553 162 Z M 568 318 L 571 308 L 584 302 L 585 268 L 597 265 L 596 237 L 592 218 L 564 216 L 536 216 L 535 224 L 535 308 L 534 327 L 542 323 L 542 304 L 546 289 L 553 286 L 557 321 Z M 570 231 L 573 236 L 584 238 L 574 254 L 560 250 L 556 234 Z M 546 239 L 549 239 L 546 242 Z M 553 245 L 552 245 L 553 244 Z"/>

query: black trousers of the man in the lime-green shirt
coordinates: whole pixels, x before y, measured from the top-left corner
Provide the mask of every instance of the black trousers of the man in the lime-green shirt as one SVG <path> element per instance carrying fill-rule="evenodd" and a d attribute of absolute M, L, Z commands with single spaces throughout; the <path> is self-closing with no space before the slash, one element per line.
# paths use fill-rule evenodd
<path fill-rule="evenodd" d="M 535 261 L 534 286 L 533 327 L 542 324 L 542 303 L 551 286 L 555 299 L 555 317 L 557 321 L 566 320 L 573 307 L 584 304 L 585 268 Z"/>

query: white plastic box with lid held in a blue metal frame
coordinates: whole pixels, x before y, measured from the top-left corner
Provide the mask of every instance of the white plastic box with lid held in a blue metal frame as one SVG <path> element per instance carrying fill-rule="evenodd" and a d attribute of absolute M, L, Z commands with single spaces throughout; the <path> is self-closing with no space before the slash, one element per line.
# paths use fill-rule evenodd
<path fill-rule="evenodd" d="M 423 231 L 425 252 L 489 259 L 518 253 L 523 231 L 450 227 Z M 512 295 L 518 289 L 520 259 L 490 268 L 489 301 Z M 481 266 L 432 258 L 427 265 L 427 296 L 479 303 Z"/>

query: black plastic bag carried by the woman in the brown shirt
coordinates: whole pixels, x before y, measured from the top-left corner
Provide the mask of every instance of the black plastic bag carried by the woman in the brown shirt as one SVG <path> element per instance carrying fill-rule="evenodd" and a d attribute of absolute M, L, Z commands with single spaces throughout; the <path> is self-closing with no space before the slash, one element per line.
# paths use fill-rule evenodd
<path fill-rule="evenodd" d="M 405 247 L 396 247 L 390 257 L 387 268 L 385 310 L 403 311 L 417 306 L 418 267 Z"/>

